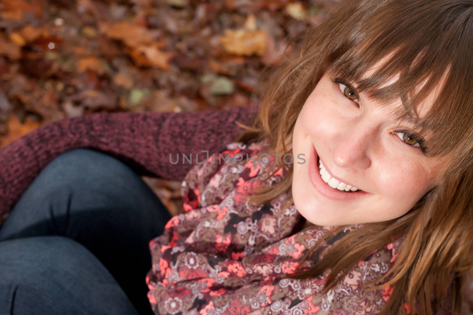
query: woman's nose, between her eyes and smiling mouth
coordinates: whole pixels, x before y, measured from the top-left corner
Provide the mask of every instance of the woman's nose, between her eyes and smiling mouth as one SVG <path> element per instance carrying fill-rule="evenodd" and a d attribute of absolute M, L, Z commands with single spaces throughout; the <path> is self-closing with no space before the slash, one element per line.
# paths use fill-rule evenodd
<path fill-rule="evenodd" d="M 343 168 L 364 171 L 371 166 L 368 148 L 376 141 L 374 128 L 353 124 L 339 129 L 339 135 L 333 141 L 333 162 Z"/>

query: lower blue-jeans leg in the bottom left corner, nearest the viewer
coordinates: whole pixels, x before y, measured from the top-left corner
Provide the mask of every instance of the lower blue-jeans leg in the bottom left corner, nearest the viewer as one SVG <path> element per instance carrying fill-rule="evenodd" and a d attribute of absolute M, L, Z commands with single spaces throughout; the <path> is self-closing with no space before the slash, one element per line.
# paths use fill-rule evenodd
<path fill-rule="evenodd" d="M 0 274 L 1 314 L 137 314 L 110 272 L 69 238 L 0 242 Z"/>

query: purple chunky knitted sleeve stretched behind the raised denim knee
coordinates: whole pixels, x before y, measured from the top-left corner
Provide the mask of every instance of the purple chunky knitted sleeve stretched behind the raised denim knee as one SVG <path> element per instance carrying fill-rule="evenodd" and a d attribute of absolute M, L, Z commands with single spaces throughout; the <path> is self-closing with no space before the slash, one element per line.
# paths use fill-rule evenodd
<path fill-rule="evenodd" d="M 36 175 L 59 154 L 72 148 L 103 151 L 140 175 L 182 180 L 193 163 L 176 154 L 217 152 L 243 131 L 255 106 L 221 111 L 92 113 L 61 119 L 37 128 L 0 149 L 0 218 L 11 211 Z M 182 159 L 181 159 L 182 160 Z"/>

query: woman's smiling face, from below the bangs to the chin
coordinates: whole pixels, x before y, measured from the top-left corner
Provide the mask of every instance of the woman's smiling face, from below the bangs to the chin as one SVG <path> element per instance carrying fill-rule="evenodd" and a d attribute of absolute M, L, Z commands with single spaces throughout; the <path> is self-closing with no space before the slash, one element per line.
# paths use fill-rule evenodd
<path fill-rule="evenodd" d="M 426 157 L 409 133 L 399 132 L 411 130 L 411 123 L 396 122 L 389 108 L 377 106 L 364 94 L 357 99 L 345 87 L 326 73 L 307 98 L 293 131 L 294 204 L 307 221 L 320 226 L 403 215 L 437 185 L 436 174 L 447 162 L 446 157 Z M 420 118 L 429 102 L 430 97 L 420 107 Z M 393 106 L 402 106 L 401 100 Z M 300 153 L 305 162 L 298 159 Z M 346 192 L 344 183 L 362 192 Z"/>

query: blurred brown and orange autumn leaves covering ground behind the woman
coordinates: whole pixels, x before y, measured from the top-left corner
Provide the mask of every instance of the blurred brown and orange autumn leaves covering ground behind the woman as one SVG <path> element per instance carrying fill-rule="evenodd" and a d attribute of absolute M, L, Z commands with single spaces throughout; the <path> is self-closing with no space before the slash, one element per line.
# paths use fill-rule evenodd
<path fill-rule="evenodd" d="M 0 0 L 0 148 L 92 112 L 258 102 L 263 70 L 298 54 L 300 36 L 337 2 Z M 171 213 L 182 209 L 180 182 L 143 179 Z"/>

